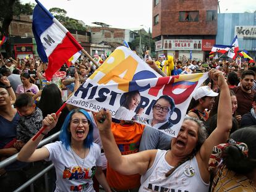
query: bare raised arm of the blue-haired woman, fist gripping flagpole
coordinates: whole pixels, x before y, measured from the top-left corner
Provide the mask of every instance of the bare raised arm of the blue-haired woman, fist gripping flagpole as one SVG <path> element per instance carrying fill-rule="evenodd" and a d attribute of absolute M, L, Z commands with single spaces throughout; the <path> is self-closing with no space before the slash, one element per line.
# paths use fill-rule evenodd
<path fill-rule="evenodd" d="M 60 115 L 61 113 L 59 113 Z M 20 150 L 17 159 L 23 162 L 34 162 L 46 159 L 49 157 L 49 151 L 46 148 L 36 149 L 40 141 L 52 128 L 56 126 L 58 122 L 59 115 L 56 117 L 56 114 L 47 115 L 43 120 L 43 127 L 46 126 L 46 129 L 43 133 L 33 141 L 31 138 Z"/>

